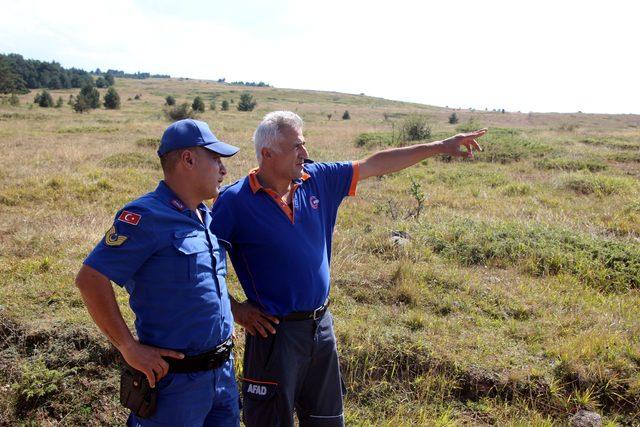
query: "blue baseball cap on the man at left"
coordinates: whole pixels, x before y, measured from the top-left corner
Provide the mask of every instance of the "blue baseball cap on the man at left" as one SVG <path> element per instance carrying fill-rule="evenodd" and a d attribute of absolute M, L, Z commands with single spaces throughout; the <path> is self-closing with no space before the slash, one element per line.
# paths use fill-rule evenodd
<path fill-rule="evenodd" d="M 169 151 L 189 147 L 206 148 L 222 157 L 231 157 L 240 150 L 238 147 L 216 138 L 205 122 L 184 119 L 172 123 L 164 131 L 160 140 L 160 148 L 158 148 L 158 156 L 164 156 Z"/>

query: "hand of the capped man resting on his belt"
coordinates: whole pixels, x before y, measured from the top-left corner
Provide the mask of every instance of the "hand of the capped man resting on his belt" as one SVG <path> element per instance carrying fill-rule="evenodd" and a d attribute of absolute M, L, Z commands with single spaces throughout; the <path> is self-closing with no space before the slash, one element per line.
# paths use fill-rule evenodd
<path fill-rule="evenodd" d="M 156 382 L 169 372 L 169 364 L 162 358 L 172 357 L 174 359 L 184 358 L 184 354 L 164 348 L 151 347 L 135 341 L 130 346 L 120 350 L 124 360 L 132 367 L 147 376 L 151 388 L 156 386 Z"/>

